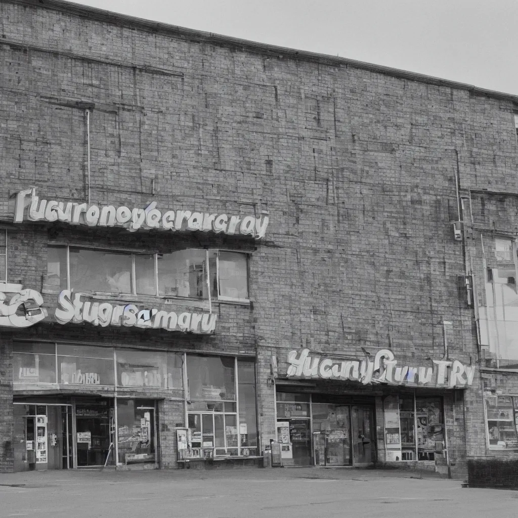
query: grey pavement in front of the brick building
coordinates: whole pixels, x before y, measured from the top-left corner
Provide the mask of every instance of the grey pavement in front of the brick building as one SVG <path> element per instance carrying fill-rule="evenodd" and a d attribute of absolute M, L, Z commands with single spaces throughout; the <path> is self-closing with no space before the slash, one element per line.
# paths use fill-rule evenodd
<path fill-rule="evenodd" d="M 0 517 L 518 516 L 518 492 L 405 470 L 235 468 L 0 474 Z"/>

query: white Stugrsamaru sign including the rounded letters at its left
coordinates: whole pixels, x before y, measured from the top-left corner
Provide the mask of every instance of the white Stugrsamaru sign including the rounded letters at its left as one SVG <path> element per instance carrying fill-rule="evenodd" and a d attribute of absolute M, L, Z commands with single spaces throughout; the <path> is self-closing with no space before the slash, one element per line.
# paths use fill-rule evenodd
<path fill-rule="evenodd" d="M 48 316 L 47 310 L 41 307 L 44 300 L 40 293 L 35 290 L 22 290 L 21 284 L 8 286 L 10 290 L 17 291 L 0 291 L 0 327 L 30 327 Z M 0 284 L 1 288 L 2 284 Z M 5 303 L 6 293 L 11 295 L 8 304 Z M 19 309 L 25 314 L 20 314 Z M 60 324 L 89 322 L 101 327 L 161 328 L 184 333 L 210 334 L 214 332 L 218 315 L 190 312 L 177 314 L 174 311 L 156 308 L 139 308 L 134 304 L 117 305 L 98 302 L 94 301 L 88 293 L 63 290 L 57 298 L 54 318 Z M 30 372 L 24 371 L 20 374 L 28 376 Z"/>

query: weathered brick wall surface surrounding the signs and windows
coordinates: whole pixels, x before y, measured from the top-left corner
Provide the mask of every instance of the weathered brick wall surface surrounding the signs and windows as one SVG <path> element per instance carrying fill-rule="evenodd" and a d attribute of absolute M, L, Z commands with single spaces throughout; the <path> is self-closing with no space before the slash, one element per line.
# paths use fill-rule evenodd
<path fill-rule="evenodd" d="M 456 241 L 450 222 L 463 217 L 457 190 L 511 191 L 491 215 L 474 202 L 472 212 L 484 232 L 500 218 L 516 235 L 518 98 L 58 1 L 4 0 L 0 19 L 9 282 L 41 291 L 49 242 L 251 252 L 252 304 L 214 303 L 213 336 L 45 323 L 18 338 L 255 355 L 263 449 L 276 438 L 272 356 L 281 377 L 287 352 L 302 348 L 359 359 L 389 348 L 404 365 L 426 365 L 444 354 L 445 320 L 450 356 L 479 365 L 464 276 L 480 238 Z M 268 214 L 265 238 L 13 225 L 12 196 L 28 186 L 87 199 L 87 109 L 92 203 Z M 11 340 L 0 332 L 2 470 L 12 469 Z M 518 393 L 516 375 L 500 376 Z M 383 463 L 382 392 L 322 390 L 376 397 Z M 467 457 L 491 454 L 479 370 L 464 394 L 441 395 L 452 471 L 463 474 Z M 162 465 L 172 467 L 183 406 L 165 400 L 159 418 Z"/>

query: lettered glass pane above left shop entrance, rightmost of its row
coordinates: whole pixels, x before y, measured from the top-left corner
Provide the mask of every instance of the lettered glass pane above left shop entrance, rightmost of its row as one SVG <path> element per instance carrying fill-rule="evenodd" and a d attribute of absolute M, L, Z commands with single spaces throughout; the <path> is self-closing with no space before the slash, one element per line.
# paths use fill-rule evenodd
<path fill-rule="evenodd" d="M 164 389 L 167 353 L 117 349 L 117 384 Z"/>

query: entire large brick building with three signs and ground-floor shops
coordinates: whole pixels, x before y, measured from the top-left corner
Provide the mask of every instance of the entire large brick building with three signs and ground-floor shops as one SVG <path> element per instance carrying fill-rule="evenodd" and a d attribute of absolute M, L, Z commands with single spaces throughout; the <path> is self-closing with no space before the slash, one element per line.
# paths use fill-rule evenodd
<path fill-rule="evenodd" d="M 1 470 L 515 455 L 517 97 L 0 17 Z"/>

